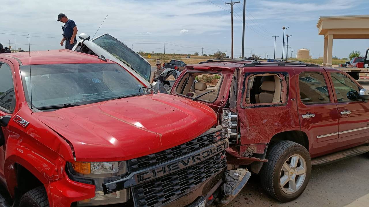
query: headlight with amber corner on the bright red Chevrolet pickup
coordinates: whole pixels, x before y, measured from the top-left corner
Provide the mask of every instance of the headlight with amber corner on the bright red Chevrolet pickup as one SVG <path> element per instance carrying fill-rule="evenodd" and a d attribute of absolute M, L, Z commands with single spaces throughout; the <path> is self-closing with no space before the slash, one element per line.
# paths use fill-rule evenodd
<path fill-rule="evenodd" d="M 95 196 L 76 202 L 76 206 L 102 206 L 125 203 L 129 200 L 130 190 L 123 189 L 114 193 L 104 194 L 103 183 L 120 179 L 127 173 L 127 164 L 122 162 L 72 162 L 68 163 L 72 180 L 95 185 Z M 88 181 L 88 182 L 87 182 Z"/>

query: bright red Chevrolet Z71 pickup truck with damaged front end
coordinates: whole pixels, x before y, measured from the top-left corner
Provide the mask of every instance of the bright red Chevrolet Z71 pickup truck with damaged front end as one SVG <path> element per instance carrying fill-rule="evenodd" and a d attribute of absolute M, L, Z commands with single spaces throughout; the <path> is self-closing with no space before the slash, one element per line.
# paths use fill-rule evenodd
<path fill-rule="evenodd" d="M 227 170 L 215 112 L 143 85 L 103 57 L 1 54 L 0 180 L 11 200 L 0 197 L 0 206 L 231 201 L 251 173 Z"/>

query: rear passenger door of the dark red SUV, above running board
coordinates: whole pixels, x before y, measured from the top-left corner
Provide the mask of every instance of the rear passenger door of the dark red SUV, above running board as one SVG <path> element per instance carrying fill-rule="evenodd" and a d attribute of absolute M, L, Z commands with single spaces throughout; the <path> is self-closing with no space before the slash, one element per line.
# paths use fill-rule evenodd
<path fill-rule="evenodd" d="M 330 79 L 321 68 L 294 68 L 301 130 L 310 137 L 312 157 L 337 147 L 338 110 Z"/>

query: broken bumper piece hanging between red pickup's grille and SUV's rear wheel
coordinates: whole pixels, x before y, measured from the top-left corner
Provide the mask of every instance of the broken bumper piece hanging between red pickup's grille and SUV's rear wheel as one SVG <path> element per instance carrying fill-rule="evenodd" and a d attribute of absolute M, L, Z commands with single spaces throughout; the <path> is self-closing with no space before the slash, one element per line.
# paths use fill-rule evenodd
<path fill-rule="evenodd" d="M 251 176 L 251 172 L 244 168 L 225 171 L 225 183 L 223 184 L 224 198 L 217 204 L 218 207 L 230 203 L 242 188 L 246 185 Z"/>

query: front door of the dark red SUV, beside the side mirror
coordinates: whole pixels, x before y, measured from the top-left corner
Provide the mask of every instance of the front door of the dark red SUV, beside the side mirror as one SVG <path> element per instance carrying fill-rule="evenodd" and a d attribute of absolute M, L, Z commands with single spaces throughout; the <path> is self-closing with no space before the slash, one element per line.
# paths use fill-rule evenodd
<path fill-rule="evenodd" d="M 338 145 L 349 148 L 362 144 L 369 138 L 369 103 L 362 99 L 352 100 L 347 96 L 349 91 L 356 91 L 359 94 L 362 87 L 344 72 L 331 70 L 328 71 L 328 75 L 336 91 L 334 100 L 339 112 Z"/>

